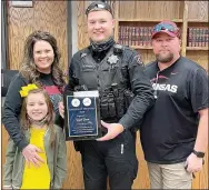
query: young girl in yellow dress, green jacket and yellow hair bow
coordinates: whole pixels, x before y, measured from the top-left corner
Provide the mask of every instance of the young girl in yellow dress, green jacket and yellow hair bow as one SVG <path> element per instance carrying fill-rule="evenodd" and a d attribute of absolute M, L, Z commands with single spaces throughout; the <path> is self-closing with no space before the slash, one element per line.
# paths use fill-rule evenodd
<path fill-rule="evenodd" d="M 39 166 L 28 166 L 21 151 L 10 139 L 6 153 L 3 188 L 60 189 L 67 173 L 66 139 L 61 128 L 53 124 L 53 106 L 48 93 L 36 84 L 20 91 L 26 97 L 20 122 L 30 144 L 41 149 L 44 160 Z"/>

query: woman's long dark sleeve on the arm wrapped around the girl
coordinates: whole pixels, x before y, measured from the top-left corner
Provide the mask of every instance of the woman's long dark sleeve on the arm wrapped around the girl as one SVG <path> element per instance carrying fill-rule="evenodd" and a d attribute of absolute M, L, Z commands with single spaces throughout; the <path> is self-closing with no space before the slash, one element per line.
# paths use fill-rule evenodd
<path fill-rule="evenodd" d="M 6 96 L 2 116 L 4 128 L 20 151 L 29 144 L 21 131 L 19 122 L 22 106 L 22 98 L 19 91 L 21 90 L 21 87 L 26 84 L 26 81 L 20 77 L 20 74 L 17 74 L 12 79 Z"/>

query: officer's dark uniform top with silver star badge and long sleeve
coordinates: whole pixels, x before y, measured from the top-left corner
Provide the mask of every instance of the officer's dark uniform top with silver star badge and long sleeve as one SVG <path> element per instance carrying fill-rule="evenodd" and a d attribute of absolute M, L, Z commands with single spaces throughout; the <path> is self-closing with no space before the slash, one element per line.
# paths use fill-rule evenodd
<path fill-rule="evenodd" d="M 135 93 L 135 99 L 123 117 L 115 122 L 121 123 L 126 129 L 133 128 L 153 104 L 153 89 L 143 72 L 137 51 L 125 48 L 122 53 L 115 54 L 112 46 L 104 54 L 103 58 L 96 58 L 91 47 L 78 51 L 70 62 L 69 83 L 66 91 L 73 91 L 74 87 L 83 84 L 88 90 L 99 91 L 110 88 L 112 83 L 117 83 L 120 88 L 129 86 Z"/>

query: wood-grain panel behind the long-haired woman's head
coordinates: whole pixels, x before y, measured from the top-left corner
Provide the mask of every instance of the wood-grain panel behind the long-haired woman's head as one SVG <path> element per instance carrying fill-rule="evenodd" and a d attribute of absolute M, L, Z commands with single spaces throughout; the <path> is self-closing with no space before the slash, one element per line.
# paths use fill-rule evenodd
<path fill-rule="evenodd" d="M 49 31 L 58 41 L 61 68 L 68 68 L 67 1 L 33 1 L 32 8 L 16 8 L 8 2 L 10 69 L 19 69 L 26 38 L 34 30 Z"/>

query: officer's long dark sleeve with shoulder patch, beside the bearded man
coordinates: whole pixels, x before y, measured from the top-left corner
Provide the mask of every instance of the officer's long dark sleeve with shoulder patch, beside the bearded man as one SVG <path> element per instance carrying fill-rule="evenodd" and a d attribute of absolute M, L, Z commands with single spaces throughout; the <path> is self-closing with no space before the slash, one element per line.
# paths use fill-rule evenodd
<path fill-rule="evenodd" d="M 135 98 L 126 114 L 120 119 L 126 129 L 135 127 L 142 121 L 145 112 L 155 103 L 153 89 L 145 73 L 143 63 L 137 51 L 132 51 L 129 62 L 129 78 Z"/>

